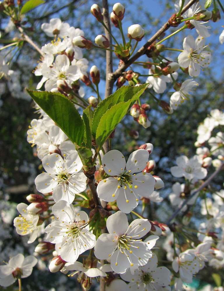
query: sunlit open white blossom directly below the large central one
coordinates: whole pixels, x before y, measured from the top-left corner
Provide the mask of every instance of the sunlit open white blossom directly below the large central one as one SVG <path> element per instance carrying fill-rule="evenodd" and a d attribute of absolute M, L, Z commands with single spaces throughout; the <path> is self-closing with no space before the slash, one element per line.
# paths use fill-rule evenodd
<path fill-rule="evenodd" d="M 116 273 L 124 273 L 129 267 L 143 266 L 148 262 L 152 252 L 141 240 L 151 229 L 147 219 L 135 219 L 128 226 L 127 216 L 118 211 L 108 217 L 106 227 L 109 234 L 101 234 L 95 245 L 98 259 L 110 257 L 111 268 Z"/>

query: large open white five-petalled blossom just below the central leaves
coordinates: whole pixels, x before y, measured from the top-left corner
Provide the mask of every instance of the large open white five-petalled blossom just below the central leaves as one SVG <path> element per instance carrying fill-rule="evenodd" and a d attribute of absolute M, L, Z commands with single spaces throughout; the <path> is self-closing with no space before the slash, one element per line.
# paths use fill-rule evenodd
<path fill-rule="evenodd" d="M 126 163 L 120 151 L 107 152 L 102 159 L 104 171 L 116 177 L 99 182 L 99 198 L 108 202 L 116 200 L 118 208 L 124 213 L 130 213 L 139 204 L 139 195 L 149 198 L 154 191 L 155 179 L 151 174 L 141 172 L 148 162 L 148 156 L 147 150 L 136 150 Z"/>

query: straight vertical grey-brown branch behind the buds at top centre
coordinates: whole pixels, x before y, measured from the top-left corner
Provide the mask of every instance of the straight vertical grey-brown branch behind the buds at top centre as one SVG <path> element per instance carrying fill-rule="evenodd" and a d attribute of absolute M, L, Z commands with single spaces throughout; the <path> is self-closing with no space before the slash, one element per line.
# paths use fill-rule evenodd
<path fill-rule="evenodd" d="M 111 31 L 111 23 L 108 13 L 108 3 L 107 0 L 102 0 L 102 6 L 103 6 L 103 17 L 104 17 L 104 24 L 108 28 L 109 31 Z M 112 43 L 112 38 L 109 32 L 104 28 L 105 36 L 108 38 L 109 42 Z M 109 50 L 106 50 L 106 86 L 105 86 L 105 98 L 112 94 L 113 90 L 113 79 L 110 78 L 111 74 L 113 73 L 113 57 L 112 52 Z"/>

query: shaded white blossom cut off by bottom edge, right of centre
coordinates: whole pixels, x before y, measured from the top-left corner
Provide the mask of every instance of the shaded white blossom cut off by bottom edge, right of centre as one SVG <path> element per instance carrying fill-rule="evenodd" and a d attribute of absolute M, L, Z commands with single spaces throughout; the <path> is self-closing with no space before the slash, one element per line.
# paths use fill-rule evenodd
<path fill-rule="evenodd" d="M 170 284 L 170 271 L 166 267 L 157 267 L 158 259 L 153 256 L 148 260 L 145 266 L 141 266 L 134 271 L 134 274 L 128 269 L 125 274 L 120 274 L 121 278 L 127 282 L 130 290 L 162 290 Z"/>

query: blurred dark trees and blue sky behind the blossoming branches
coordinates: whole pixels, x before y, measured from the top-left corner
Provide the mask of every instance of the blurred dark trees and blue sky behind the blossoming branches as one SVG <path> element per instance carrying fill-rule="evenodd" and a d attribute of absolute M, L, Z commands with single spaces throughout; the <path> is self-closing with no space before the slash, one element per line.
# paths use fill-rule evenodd
<path fill-rule="evenodd" d="M 26 14 L 24 21 L 27 24 L 24 27 L 27 28 L 27 34 L 41 47 L 52 40 L 41 31 L 41 24 L 49 22 L 51 18 L 59 17 L 61 20 L 68 22 L 70 26 L 83 29 L 85 37 L 94 42 L 95 36 L 104 34 L 104 30 L 95 20 L 95 17 L 90 14 L 90 7 L 93 3 L 95 2 L 87 0 L 46 0 L 43 5 Z M 101 6 L 100 1 L 96 1 L 96 3 Z M 114 3 L 111 0 L 109 1 L 110 12 Z M 169 0 L 140 0 L 137 3 L 136 1 L 122 1 L 125 6 L 125 18 L 122 21 L 124 31 L 127 31 L 129 25 L 136 23 L 142 25 L 146 31 L 145 37 L 139 43 L 138 48 L 174 13 L 173 3 L 174 1 Z M 164 198 L 164 202 L 159 204 L 152 202 L 146 207 L 143 214 L 145 217 L 153 218 L 153 220 L 159 222 L 165 222 L 174 211 L 167 198 L 172 185 L 175 182 L 184 182 L 183 178 L 174 178 L 170 173 L 170 167 L 175 165 L 175 158 L 182 154 L 189 158 L 192 157 L 196 151 L 194 143 L 197 138 L 196 131 L 199 123 L 206 118 L 211 109 L 224 110 L 223 63 L 221 62 L 223 60 L 223 50 L 221 50 L 218 42 L 224 15 L 221 15 L 221 17 L 222 19 L 219 22 L 209 23 L 213 28 L 211 29 L 212 36 L 208 38 L 208 41 L 210 41 L 208 49 L 213 53 L 213 60 L 211 65 L 199 77 L 195 78 L 199 86 L 193 97 L 185 101 L 173 114 L 168 115 L 146 92 L 142 97 L 142 103 L 150 104 L 148 117 L 151 126 L 144 129 L 131 116 L 127 115 L 115 131 L 112 148 L 122 151 L 126 158 L 130 152 L 143 143 L 150 142 L 154 146 L 150 159 L 155 159 L 156 169 L 154 173 L 160 176 L 165 184 L 164 189 L 159 191 Z M 175 28 L 169 29 L 166 36 L 175 30 Z M 0 18 L 0 31 L 2 35 L 0 41 L 2 39 L 10 41 L 15 37 L 21 38 L 15 26 L 9 22 L 9 18 L 3 13 L 1 13 Z M 113 25 L 112 31 L 121 41 L 119 31 Z M 186 29 L 174 38 L 164 42 L 164 44 L 168 48 L 182 49 L 183 38 L 188 34 L 197 36 L 196 31 Z M 1 53 L 4 54 L 5 51 L 3 50 Z M 38 118 L 38 115 L 34 113 L 34 103 L 24 90 L 25 87 L 35 90 L 36 84 L 40 80 L 40 77 L 36 77 L 32 73 L 40 56 L 25 42 L 16 51 L 10 52 L 9 48 L 7 53 L 8 59 L 11 59 L 10 69 L 15 72 L 16 78 L 10 78 L 9 76 L 0 80 L 1 262 L 2 260 L 8 261 L 9 256 L 18 252 L 32 254 L 34 251 L 37 242 L 28 245 L 27 238 L 21 237 L 15 232 L 13 218 L 17 216 L 16 205 L 20 202 L 26 203 L 25 197 L 30 193 L 36 193 L 34 179 L 40 173 L 40 161 L 36 157 L 35 148 L 31 148 L 26 141 L 28 126 L 33 118 Z M 104 96 L 105 52 L 93 49 L 90 51 L 84 50 L 83 53 L 84 57 L 90 62 L 89 68 L 96 65 L 101 72 L 100 94 Z M 161 55 L 177 60 L 178 52 L 165 51 Z M 150 59 L 144 55 L 140 61 L 150 61 Z M 114 70 L 118 67 L 118 63 L 119 60 L 114 55 Z M 143 69 L 141 66 L 133 65 L 131 69 L 143 74 L 148 73 L 148 69 Z M 146 78 L 141 77 L 141 83 L 145 83 Z M 183 82 L 189 78 L 187 74 L 179 73 L 178 82 Z M 128 85 L 127 82 L 125 85 Z M 42 88 L 42 90 L 44 89 Z M 116 87 L 114 87 L 113 92 L 115 90 Z M 88 99 L 92 92 L 87 87 L 85 87 L 85 91 L 85 98 Z M 174 92 L 171 83 L 167 84 L 167 90 L 163 94 L 157 94 L 156 96 L 169 103 L 170 92 Z M 130 128 L 139 131 L 139 139 L 133 139 L 127 134 Z M 208 176 L 213 171 L 214 168 L 211 166 Z M 223 187 L 221 173 L 213 180 L 212 186 L 218 190 Z M 138 209 L 141 212 L 141 203 Z M 195 220 L 191 223 L 190 228 L 197 229 L 197 225 L 201 221 L 199 205 L 195 206 L 193 214 Z M 176 219 L 176 222 L 181 221 L 181 215 L 178 216 L 178 219 Z M 162 239 L 161 242 L 163 242 Z M 162 248 L 159 251 L 159 257 L 165 260 L 165 252 Z M 42 257 L 42 261 L 40 260 L 38 263 L 40 271 L 35 270 L 29 278 L 22 280 L 23 290 L 81 290 L 80 286 L 75 287 L 74 278 L 67 278 L 60 272 L 51 274 L 45 264 L 48 259 L 50 259 L 48 256 Z M 167 265 L 166 267 L 170 267 L 170 264 Z M 223 270 L 208 270 L 208 268 L 205 268 L 199 272 L 200 284 L 204 284 L 204 282 L 215 284 L 212 276 L 207 276 L 208 271 L 217 273 L 220 278 L 224 278 Z M 17 283 L 13 287 L 8 287 L 8 289 L 0 287 L 0 290 L 17 290 Z M 92 290 L 94 290 L 94 287 Z"/>

